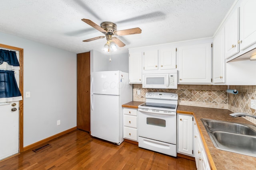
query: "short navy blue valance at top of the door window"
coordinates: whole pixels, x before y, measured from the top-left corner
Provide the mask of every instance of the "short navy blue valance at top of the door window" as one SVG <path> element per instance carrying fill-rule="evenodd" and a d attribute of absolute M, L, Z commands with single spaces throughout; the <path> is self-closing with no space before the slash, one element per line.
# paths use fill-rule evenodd
<path fill-rule="evenodd" d="M 0 49 L 0 69 L 20 70 L 16 51 Z"/>

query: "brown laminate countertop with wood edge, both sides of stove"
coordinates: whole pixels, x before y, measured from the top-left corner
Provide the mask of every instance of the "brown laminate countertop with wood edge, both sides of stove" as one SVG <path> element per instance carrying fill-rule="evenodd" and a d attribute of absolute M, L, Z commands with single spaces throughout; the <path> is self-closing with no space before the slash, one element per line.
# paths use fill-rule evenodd
<path fill-rule="evenodd" d="M 138 106 L 142 103 L 144 102 L 132 101 L 122 105 L 122 107 L 138 108 Z M 255 157 L 228 152 L 214 147 L 200 119 L 214 119 L 254 125 L 253 123 L 242 117 L 231 117 L 229 114 L 233 112 L 228 109 L 178 105 L 177 113 L 194 115 L 199 133 L 202 137 L 204 148 L 206 150 L 208 161 L 213 170 L 256 170 Z"/>

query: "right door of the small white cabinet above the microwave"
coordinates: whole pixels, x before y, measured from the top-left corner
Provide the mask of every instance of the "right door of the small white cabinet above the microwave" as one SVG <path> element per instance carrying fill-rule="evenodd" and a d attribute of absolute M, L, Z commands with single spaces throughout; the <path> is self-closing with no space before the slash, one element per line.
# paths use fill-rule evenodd
<path fill-rule="evenodd" d="M 175 69 L 176 68 L 176 48 L 160 48 L 158 50 L 159 69 Z"/>

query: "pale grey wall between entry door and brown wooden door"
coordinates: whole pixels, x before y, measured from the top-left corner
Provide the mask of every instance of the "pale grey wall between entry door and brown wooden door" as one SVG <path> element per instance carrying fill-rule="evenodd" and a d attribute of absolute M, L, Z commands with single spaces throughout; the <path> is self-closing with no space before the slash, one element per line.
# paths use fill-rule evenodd
<path fill-rule="evenodd" d="M 76 127 L 76 53 L 1 32 L 0 43 L 24 49 L 24 147 Z"/>

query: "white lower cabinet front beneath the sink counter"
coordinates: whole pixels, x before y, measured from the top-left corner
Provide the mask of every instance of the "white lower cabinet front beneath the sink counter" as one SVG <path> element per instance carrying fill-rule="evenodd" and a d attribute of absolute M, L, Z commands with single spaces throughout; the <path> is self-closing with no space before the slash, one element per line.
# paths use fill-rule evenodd
<path fill-rule="evenodd" d="M 198 170 L 210 170 L 210 164 L 207 160 L 206 152 L 204 150 L 204 145 L 198 131 L 196 123 L 194 123 L 194 156 L 196 160 L 196 168 Z"/>

